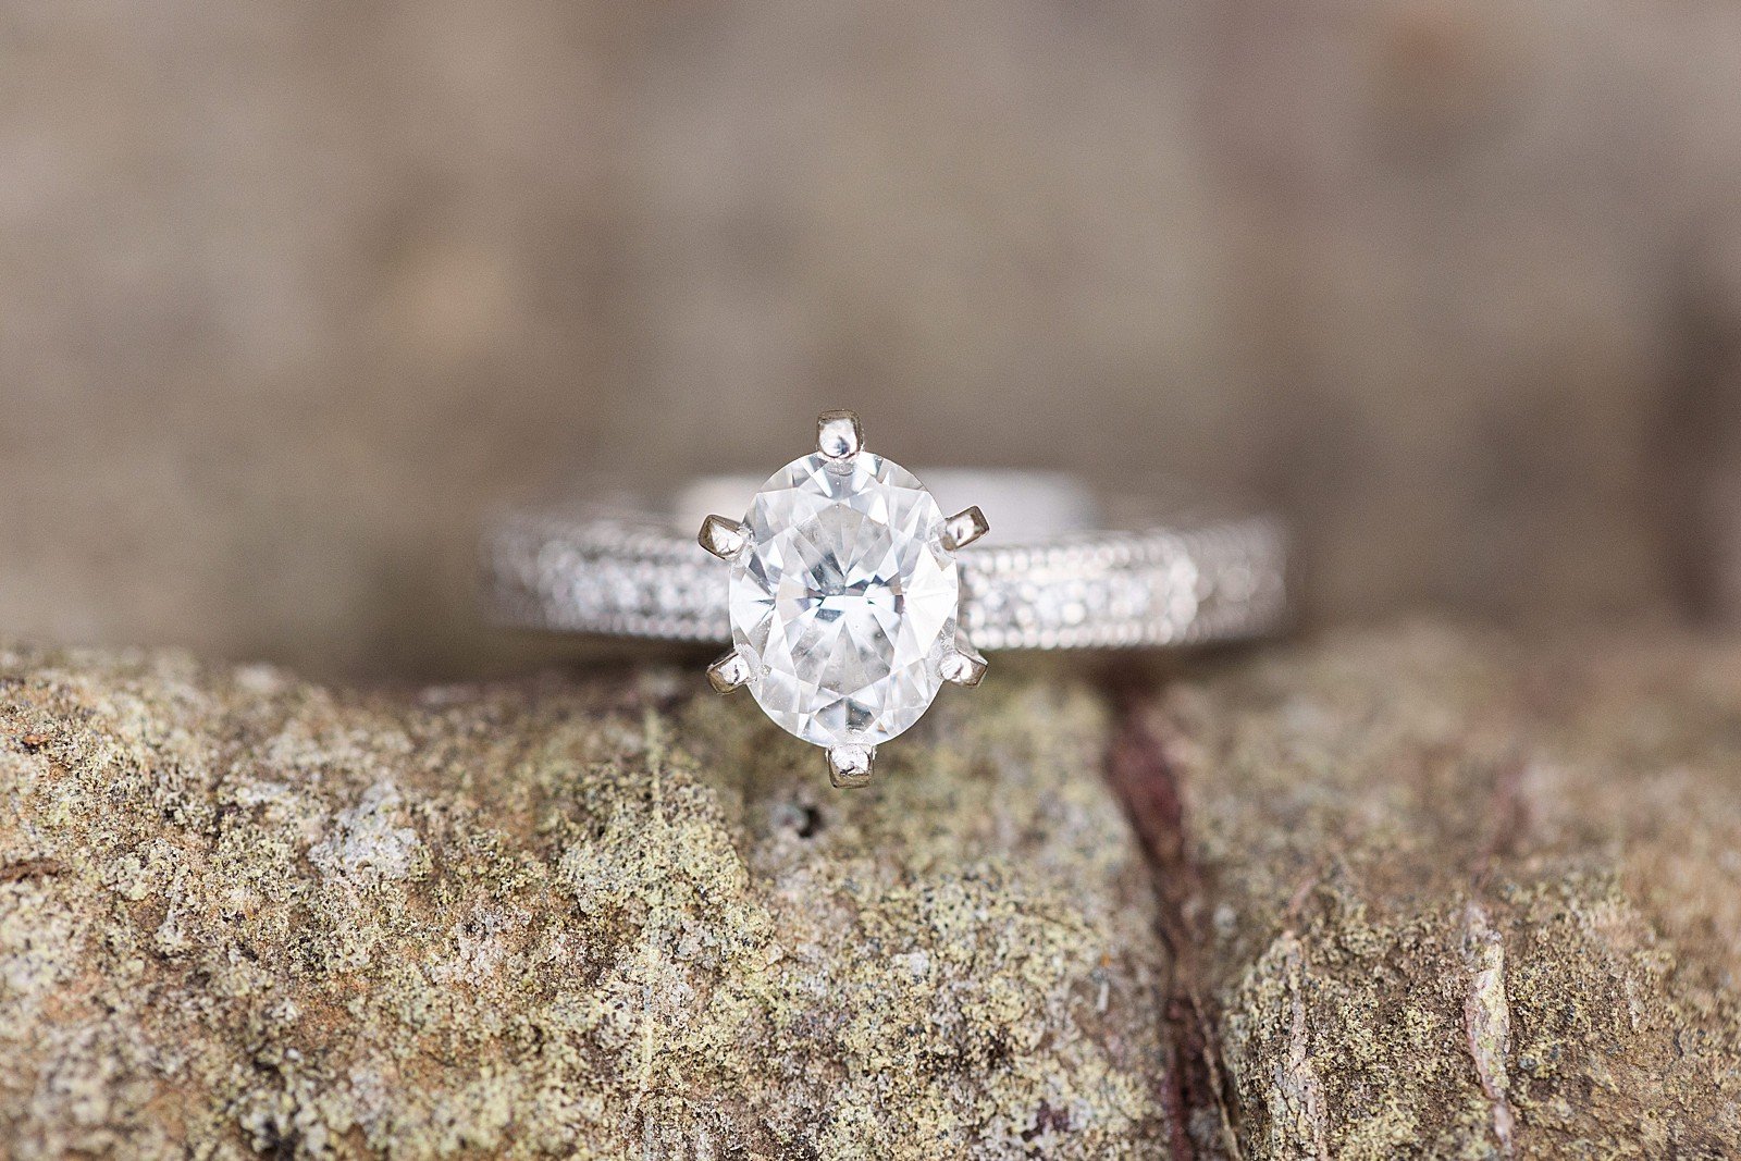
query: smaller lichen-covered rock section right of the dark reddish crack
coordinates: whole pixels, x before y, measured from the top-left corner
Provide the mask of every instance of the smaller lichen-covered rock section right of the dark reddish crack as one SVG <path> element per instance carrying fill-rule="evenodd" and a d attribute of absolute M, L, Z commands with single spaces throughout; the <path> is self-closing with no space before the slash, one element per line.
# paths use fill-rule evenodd
<path fill-rule="evenodd" d="M 1193 884 L 1205 1152 L 1734 1156 L 1741 651 L 1344 634 L 1132 733 L 1184 797 L 1137 822 Z"/>

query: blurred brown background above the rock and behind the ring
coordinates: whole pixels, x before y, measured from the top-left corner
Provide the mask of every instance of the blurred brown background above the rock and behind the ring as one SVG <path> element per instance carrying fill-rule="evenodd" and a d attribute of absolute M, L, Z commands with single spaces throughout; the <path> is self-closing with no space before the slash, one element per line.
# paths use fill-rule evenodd
<path fill-rule="evenodd" d="M 1741 616 L 1741 7 L 0 0 L 0 634 L 465 672 L 581 470 L 1280 505 L 1309 616 Z"/>

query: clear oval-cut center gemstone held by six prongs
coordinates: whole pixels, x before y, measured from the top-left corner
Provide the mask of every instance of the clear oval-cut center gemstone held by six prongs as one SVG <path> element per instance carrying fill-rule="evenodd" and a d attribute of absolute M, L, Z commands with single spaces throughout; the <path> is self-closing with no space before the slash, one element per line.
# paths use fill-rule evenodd
<path fill-rule="evenodd" d="M 961 604 L 942 524 L 911 472 L 867 451 L 804 456 L 763 484 L 729 609 L 768 717 L 825 747 L 876 745 L 919 721 Z"/>

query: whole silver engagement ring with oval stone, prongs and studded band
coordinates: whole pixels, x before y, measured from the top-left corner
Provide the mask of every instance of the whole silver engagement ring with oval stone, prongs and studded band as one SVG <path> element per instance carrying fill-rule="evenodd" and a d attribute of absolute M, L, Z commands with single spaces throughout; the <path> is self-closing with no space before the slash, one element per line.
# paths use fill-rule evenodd
<path fill-rule="evenodd" d="M 944 684 L 977 686 L 982 651 L 1233 641 L 1285 613 L 1273 519 L 1161 520 L 1154 503 L 1119 519 L 1041 472 L 926 479 L 973 507 L 947 515 L 864 447 L 858 416 L 829 411 L 817 449 L 759 487 L 716 477 L 663 505 L 503 520 L 486 541 L 486 595 L 522 627 L 729 641 L 707 670 L 714 689 L 747 688 L 782 729 L 823 747 L 837 787 L 865 785 L 877 745 Z M 698 538 L 684 531 L 696 522 Z"/>

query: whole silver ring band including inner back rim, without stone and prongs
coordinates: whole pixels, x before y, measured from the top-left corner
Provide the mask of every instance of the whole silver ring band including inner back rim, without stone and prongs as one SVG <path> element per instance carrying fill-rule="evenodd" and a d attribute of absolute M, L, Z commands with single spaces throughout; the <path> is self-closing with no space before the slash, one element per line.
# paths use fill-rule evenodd
<path fill-rule="evenodd" d="M 1238 641 L 1287 613 L 1287 545 L 1271 517 L 1142 517 L 1065 475 L 921 472 L 944 510 L 973 498 L 994 529 L 959 550 L 961 627 L 991 649 L 1118 649 Z M 761 480 L 712 477 L 669 503 L 616 498 L 517 513 L 484 543 L 491 613 L 543 630 L 724 642 L 726 576 L 695 541 Z M 1130 519 L 1137 513 L 1137 519 Z"/>

